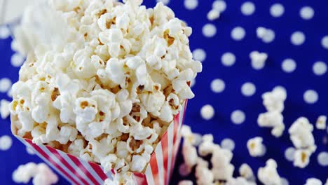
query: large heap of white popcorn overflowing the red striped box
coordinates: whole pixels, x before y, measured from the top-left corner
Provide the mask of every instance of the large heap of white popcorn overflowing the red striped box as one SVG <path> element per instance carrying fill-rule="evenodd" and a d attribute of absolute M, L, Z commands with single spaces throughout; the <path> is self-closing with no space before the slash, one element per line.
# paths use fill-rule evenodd
<path fill-rule="evenodd" d="M 202 65 L 189 49 L 191 27 L 162 3 L 141 4 L 52 1 L 67 39 L 29 41 L 38 44 L 12 88 L 15 134 L 100 163 L 105 172 L 144 172 L 182 104 L 194 97 L 188 83 Z M 18 35 L 30 39 L 34 33 L 22 21 Z"/>

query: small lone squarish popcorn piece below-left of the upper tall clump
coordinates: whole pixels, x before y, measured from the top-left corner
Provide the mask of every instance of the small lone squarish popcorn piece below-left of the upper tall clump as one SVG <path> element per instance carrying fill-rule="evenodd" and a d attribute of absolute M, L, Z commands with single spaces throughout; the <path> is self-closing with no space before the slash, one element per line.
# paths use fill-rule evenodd
<path fill-rule="evenodd" d="M 254 137 L 247 141 L 247 149 L 252 157 L 264 156 L 266 146 L 264 146 L 262 137 Z"/>

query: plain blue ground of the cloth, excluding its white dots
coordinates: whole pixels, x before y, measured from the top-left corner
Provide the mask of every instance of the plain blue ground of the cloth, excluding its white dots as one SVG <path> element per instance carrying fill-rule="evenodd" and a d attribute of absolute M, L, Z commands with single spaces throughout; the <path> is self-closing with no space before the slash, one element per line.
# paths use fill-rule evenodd
<path fill-rule="evenodd" d="M 285 159 L 285 149 L 292 146 L 287 130 L 289 126 L 300 116 L 306 116 L 311 123 L 315 123 L 320 115 L 328 116 L 328 88 L 327 75 L 315 76 L 313 63 L 317 61 L 327 62 L 328 50 L 321 45 L 321 39 L 328 34 L 328 1 L 252 1 L 256 11 L 250 16 L 242 15 L 240 6 L 243 0 L 226 1 L 227 8 L 218 20 L 211 22 L 217 27 L 217 34 L 212 38 L 206 38 L 202 34 L 203 25 L 209 23 L 207 12 L 212 8 L 212 1 L 199 0 L 198 7 L 189 11 L 184 8 L 184 1 L 171 0 L 168 4 L 175 11 L 178 18 L 185 20 L 193 27 L 190 37 L 191 50 L 202 48 L 207 57 L 203 62 L 203 72 L 196 79 L 193 91 L 196 97 L 189 101 L 185 123 L 191 125 L 194 132 L 200 134 L 212 133 L 214 140 L 220 143 L 224 138 L 231 138 L 235 142 L 232 163 L 235 165 L 235 176 L 242 163 L 247 163 L 257 174 L 257 169 L 265 165 L 268 158 L 273 158 L 278 163 L 278 172 L 285 177 L 289 184 L 305 184 L 306 179 L 316 177 L 324 183 L 328 177 L 328 167 L 322 167 L 317 163 L 317 153 L 327 151 L 327 144 L 323 143 L 327 138 L 327 130 L 314 130 L 317 151 L 311 156 L 310 164 L 300 169 L 294 167 L 292 162 Z M 285 13 L 280 18 L 270 15 L 272 4 L 279 2 L 285 6 Z M 146 6 L 155 6 L 154 0 L 144 3 Z M 311 20 L 303 20 L 299 16 L 299 10 L 303 6 L 311 6 L 315 10 L 315 16 Z M 246 36 L 242 41 L 231 39 L 231 30 L 234 27 L 243 27 Z M 264 43 L 257 39 L 257 27 L 273 29 L 275 40 Z M 294 46 L 290 42 L 293 32 L 301 31 L 306 36 L 306 41 L 301 46 Z M 0 78 L 11 78 L 13 82 L 18 79 L 18 68 L 11 66 L 11 39 L 0 40 Z M 268 53 L 266 66 L 262 70 L 254 70 L 250 65 L 249 54 L 253 50 Z M 221 55 L 231 52 L 236 56 L 236 62 L 232 67 L 224 67 L 221 64 Z M 281 69 L 281 63 L 286 58 L 296 61 L 294 72 L 287 74 Z M 213 93 L 210 83 L 214 78 L 221 78 L 226 83 L 222 93 Z M 241 94 L 243 83 L 252 82 L 257 87 L 252 97 Z M 265 112 L 261 95 L 271 91 L 276 85 L 282 85 L 287 90 L 287 100 L 283 111 L 286 130 L 280 138 L 271 135 L 271 129 L 259 128 L 257 116 Z M 313 89 L 317 91 L 319 100 L 315 104 L 307 104 L 303 100 L 303 93 Z M 5 93 L 0 93 L 0 99 L 10 100 Z M 210 121 L 204 121 L 200 117 L 200 108 L 205 104 L 211 104 L 215 110 L 215 116 Z M 245 112 L 246 120 L 240 125 L 231 122 L 231 113 L 236 109 Z M 11 135 L 10 121 L 1 121 L 0 135 Z M 266 155 L 260 158 L 252 158 L 246 147 L 248 139 L 256 136 L 264 138 Z M 4 184 L 13 184 L 11 174 L 20 164 L 30 161 L 41 162 L 37 156 L 31 156 L 26 152 L 25 146 L 13 137 L 13 146 L 8 151 L 0 151 L 0 179 Z M 179 156 L 177 163 L 182 163 Z M 178 165 L 172 177 L 171 184 L 177 184 L 179 177 Z M 189 177 L 191 178 L 191 177 Z M 59 184 L 67 184 L 60 177 Z"/>

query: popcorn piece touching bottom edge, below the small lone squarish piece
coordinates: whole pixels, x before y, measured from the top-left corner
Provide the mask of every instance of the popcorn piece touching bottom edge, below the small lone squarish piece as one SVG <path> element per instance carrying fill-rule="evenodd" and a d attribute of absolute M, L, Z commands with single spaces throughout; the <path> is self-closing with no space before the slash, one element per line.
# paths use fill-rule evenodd
<path fill-rule="evenodd" d="M 277 172 L 277 163 L 273 159 L 266 160 L 265 167 L 259 167 L 257 177 L 263 184 L 279 185 L 281 184 L 280 176 Z"/>

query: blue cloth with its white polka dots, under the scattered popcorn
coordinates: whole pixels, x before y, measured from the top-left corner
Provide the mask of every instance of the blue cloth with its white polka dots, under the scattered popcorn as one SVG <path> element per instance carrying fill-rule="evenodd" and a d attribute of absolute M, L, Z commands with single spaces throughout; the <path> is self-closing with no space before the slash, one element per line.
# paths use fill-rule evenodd
<path fill-rule="evenodd" d="M 189 38 L 193 57 L 203 63 L 203 72 L 193 81 L 196 97 L 189 101 L 184 123 L 193 132 L 212 134 L 214 142 L 232 149 L 231 164 L 247 163 L 255 176 L 259 167 L 274 159 L 277 170 L 289 184 L 306 184 L 328 178 L 328 130 L 317 129 L 319 116 L 328 116 L 328 3 L 324 1 L 163 1 L 177 18 L 193 28 Z M 155 0 L 145 1 L 147 7 Z M 11 83 L 18 80 L 22 56 L 11 50 L 10 31 L 0 27 L 0 100 L 11 100 Z M 272 128 L 259 126 L 260 114 L 267 112 L 262 95 L 275 87 L 285 89 L 287 97 L 281 113 L 285 130 L 275 137 Z M 316 149 L 306 167 L 296 167 L 287 155 L 294 147 L 289 128 L 300 117 L 313 125 Z M 41 162 L 11 135 L 10 120 L 1 120 L 1 181 L 13 184 L 12 173 L 18 165 Z M 8 144 L 10 136 L 12 145 Z M 262 137 L 266 152 L 254 157 L 247 141 Z M 6 144 L 4 144 L 6 143 Z M 230 147 L 233 145 L 233 147 Z M 320 160 L 319 160 L 320 159 Z M 293 160 L 293 159 L 292 159 Z M 179 174 L 184 163 L 180 149 L 170 184 L 190 179 L 196 184 L 194 170 Z M 257 178 L 257 184 L 261 184 Z M 60 177 L 58 184 L 67 184 Z"/>

